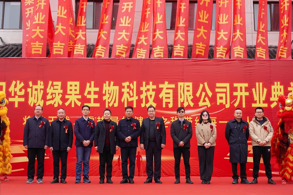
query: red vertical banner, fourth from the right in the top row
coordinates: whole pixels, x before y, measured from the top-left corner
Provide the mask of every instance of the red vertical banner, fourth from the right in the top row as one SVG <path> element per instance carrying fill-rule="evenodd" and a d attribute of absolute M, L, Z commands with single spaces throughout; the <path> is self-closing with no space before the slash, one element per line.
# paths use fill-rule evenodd
<path fill-rule="evenodd" d="M 229 59 L 231 42 L 232 1 L 216 1 L 214 59 Z"/>

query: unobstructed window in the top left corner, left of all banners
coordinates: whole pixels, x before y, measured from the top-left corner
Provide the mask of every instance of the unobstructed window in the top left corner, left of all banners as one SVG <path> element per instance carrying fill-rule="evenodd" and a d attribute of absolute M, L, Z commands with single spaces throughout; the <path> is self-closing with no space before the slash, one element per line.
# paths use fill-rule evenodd
<path fill-rule="evenodd" d="M 22 29 L 21 1 L 0 0 L 0 29 Z"/>

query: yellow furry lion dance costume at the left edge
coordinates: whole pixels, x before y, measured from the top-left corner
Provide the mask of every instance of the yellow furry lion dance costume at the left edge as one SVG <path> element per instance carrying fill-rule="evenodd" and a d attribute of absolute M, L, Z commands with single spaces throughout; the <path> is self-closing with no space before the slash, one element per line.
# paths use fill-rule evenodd
<path fill-rule="evenodd" d="M 10 129 L 9 129 L 9 119 L 6 116 L 8 100 L 6 99 L 6 94 L 0 92 L 0 117 L 1 117 L 1 128 L 2 128 L 2 145 L 0 144 L 0 175 L 9 175 L 12 170 L 10 164 L 11 148 L 10 148 Z M 1 138 L 2 139 L 2 138 Z"/>

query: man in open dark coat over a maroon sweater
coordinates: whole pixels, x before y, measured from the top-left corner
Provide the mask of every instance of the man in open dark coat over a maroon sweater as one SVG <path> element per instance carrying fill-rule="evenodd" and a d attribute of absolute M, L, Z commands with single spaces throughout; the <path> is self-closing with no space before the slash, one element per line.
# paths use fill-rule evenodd
<path fill-rule="evenodd" d="M 111 121 L 111 110 L 105 109 L 104 119 L 97 122 L 95 130 L 95 150 L 100 158 L 100 184 L 105 183 L 105 165 L 107 163 L 107 183 L 112 184 L 112 162 L 116 150 L 119 149 L 119 139 L 117 136 L 117 123 Z"/>

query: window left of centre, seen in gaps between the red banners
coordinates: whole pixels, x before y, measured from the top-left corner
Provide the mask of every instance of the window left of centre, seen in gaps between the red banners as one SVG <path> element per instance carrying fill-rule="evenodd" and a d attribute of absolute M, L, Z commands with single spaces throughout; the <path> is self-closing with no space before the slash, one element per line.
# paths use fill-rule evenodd
<path fill-rule="evenodd" d="M 86 28 L 87 29 L 99 29 L 100 17 L 102 13 L 102 0 L 88 0 L 86 4 Z M 112 22 L 111 29 L 115 29 L 117 13 L 118 13 L 119 1 L 113 1 L 113 11 L 112 11 Z M 76 20 L 79 9 L 79 0 L 76 1 Z"/>

